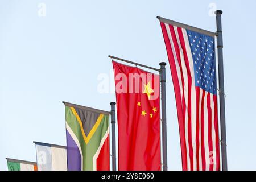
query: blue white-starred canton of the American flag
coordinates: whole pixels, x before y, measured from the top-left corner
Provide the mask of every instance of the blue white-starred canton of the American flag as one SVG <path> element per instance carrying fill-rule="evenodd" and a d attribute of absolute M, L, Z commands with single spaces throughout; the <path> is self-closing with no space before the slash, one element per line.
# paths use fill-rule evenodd
<path fill-rule="evenodd" d="M 194 63 L 195 84 L 217 94 L 214 38 L 187 30 Z"/>

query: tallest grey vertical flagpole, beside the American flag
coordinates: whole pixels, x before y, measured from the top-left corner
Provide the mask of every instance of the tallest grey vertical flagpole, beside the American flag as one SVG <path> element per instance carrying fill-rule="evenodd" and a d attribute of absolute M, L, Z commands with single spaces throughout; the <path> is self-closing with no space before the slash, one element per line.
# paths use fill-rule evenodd
<path fill-rule="evenodd" d="M 222 24 L 221 24 L 221 10 L 217 10 L 217 49 L 218 49 L 218 78 L 220 89 L 220 122 L 221 122 L 221 158 L 222 170 L 228 170 L 228 162 L 226 155 L 226 119 L 225 119 L 225 91 L 224 91 L 224 68 L 223 68 L 223 39 L 222 39 Z"/>

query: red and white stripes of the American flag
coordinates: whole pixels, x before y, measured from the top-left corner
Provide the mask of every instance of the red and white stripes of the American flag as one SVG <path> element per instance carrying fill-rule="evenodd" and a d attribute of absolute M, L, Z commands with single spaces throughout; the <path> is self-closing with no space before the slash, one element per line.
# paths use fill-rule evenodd
<path fill-rule="evenodd" d="M 217 96 L 195 85 L 187 31 L 160 24 L 174 83 L 183 170 L 220 170 Z"/>

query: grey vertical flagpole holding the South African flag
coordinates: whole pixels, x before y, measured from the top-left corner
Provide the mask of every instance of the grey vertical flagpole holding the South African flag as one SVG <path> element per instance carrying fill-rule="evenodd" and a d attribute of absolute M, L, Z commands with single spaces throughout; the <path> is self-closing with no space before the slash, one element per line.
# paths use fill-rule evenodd
<path fill-rule="evenodd" d="M 111 133 L 112 133 L 112 171 L 117 171 L 117 158 L 115 157 L 115 102 L 110 102 L 111 105 Z"/>

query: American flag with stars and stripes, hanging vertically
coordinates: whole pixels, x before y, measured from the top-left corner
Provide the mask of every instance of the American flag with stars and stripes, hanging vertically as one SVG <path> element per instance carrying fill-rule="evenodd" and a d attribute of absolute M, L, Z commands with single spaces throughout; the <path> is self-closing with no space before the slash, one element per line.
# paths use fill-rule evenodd
<path fill-rule="evenodd" d="M 214 37 L 160 24 L 174 83 L 183 170 L 220 170 Z"/>

